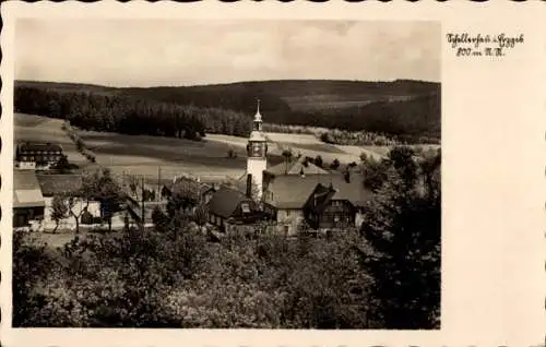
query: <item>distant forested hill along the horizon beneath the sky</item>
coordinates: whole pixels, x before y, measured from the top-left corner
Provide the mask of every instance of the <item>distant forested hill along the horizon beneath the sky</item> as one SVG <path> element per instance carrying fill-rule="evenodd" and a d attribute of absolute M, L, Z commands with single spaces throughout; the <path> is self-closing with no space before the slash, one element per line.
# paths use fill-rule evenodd
<path fill-rule="evenodd" d="M 221 110 L 230 111 L 230 117 L 240 118 L 239 121 L 249 119 L 256 111 L 256 98 L 260 98 L 266 122 L 367 130 L 403 137 L 439 136 L 441 115 L 440 84 L 408 80 L 285 80 L 122 88 L 17 81 L 16 104 L 17 91 L 23 89 L 58 94 L 85 93 L 123 99 L 123 103 L 146 100 L 162 105 L 191 106 L 193 109 L 214 109 L 216 123 L 221 121 L 217 118 L 221 115 L 216 115 Z M 19 106 L 22 106 L 21 101 Z M 206 119 L 202 120 L 205 130 L 217 132 L 207 124 Z M 247 130 L 246 127 L 238 128 Z"/>

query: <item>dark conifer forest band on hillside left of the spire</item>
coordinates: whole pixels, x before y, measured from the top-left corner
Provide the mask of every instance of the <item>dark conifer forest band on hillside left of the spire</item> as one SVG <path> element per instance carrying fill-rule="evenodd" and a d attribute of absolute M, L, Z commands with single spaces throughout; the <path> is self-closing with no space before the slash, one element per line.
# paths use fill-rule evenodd
<path fill-rule="evenodd" d="M 70 121 L 83 130 L 198 140 L 205 133 L 246 136 L 249 116 L 219 108 L 200 108 L 116 93 L 62 93 L 52 88 L 16 86 L 16 112 Z"/>

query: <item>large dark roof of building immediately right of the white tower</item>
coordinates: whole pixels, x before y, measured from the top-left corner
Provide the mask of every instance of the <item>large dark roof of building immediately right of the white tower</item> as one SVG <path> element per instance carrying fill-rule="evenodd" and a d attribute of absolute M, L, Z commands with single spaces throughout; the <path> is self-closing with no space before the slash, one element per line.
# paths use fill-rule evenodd
<path fill-rule="evenodd" d="M 348 200 L 355 206 L 365 206 L 371 199 L 371 192 L 364 187 L 364 176 L 352 174 L 347 182 L 342 174 L 331 175 L 283 175 L 276 176 L 268 186 L 265 202 L 277 208 L 302 208 L 317 184 L 332 187 L 335 194 L 332 200 Z"/>

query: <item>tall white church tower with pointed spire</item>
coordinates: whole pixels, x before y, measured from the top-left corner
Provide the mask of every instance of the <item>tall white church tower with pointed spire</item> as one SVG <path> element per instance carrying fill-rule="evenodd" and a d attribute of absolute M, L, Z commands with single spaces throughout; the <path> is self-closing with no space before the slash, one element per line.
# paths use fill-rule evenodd
<path fill-rule="evenodd" d="M 252 132 L 247 145 L 247 177 L 258 190 L 258 198 L 262 196 L 263 171 L 268 168 L 268 140 L 262 132 L 262 115 L 260 115 L 260 100 L 252 122 Z M 248 184 L 248 183 L 247 183 Z M 247 187 L 250 191 L 251 187 Z"/>

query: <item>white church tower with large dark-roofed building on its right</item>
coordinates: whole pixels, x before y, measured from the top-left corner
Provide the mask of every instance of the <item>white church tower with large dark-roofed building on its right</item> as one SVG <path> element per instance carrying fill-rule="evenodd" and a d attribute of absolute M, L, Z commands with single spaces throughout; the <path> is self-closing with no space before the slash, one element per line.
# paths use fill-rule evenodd
<path fill-rule="evenodd" d="M 259 106 L 247 146 L 247 171 L 236 184 L 239 194 L 248 195 L 258 188 L 259 210 L 274 219 L 284 235 L 295 235 L 304 225 L 327 230 L 359 227 L 372 198 L 364 187 L 364 176 L 353 169 L 328 171 L 301 158 L 268 167 Z M 233 204 L 235 211 L 236 202 Z"/>

